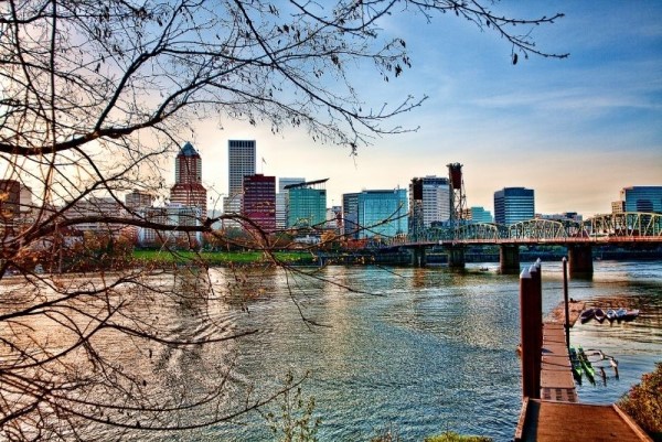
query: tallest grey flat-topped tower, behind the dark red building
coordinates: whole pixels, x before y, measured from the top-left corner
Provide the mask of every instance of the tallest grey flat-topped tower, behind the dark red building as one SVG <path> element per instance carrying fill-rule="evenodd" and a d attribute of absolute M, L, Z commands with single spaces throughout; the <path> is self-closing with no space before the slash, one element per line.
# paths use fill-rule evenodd
<path fill-rule="evenodd" d="M 255 140 L 228 140 L 227 160 L 228 191 L 223 209 L 241 214 L 244 176 L 255 175 Z"/>

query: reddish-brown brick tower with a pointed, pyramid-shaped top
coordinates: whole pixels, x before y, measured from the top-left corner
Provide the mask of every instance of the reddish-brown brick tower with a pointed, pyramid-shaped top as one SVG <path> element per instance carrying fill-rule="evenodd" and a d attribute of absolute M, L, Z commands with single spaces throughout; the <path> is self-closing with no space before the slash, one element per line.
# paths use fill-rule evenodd
<path fill-rule="evenodd" d="M 170 188 L 170 202 L 184 207 L 197 207 L 206 215 L 206 188 L 202 185 L 202 159 L 186 142 L 174 160 L 174 185 Z"/>

